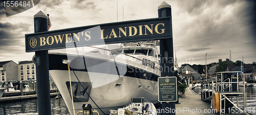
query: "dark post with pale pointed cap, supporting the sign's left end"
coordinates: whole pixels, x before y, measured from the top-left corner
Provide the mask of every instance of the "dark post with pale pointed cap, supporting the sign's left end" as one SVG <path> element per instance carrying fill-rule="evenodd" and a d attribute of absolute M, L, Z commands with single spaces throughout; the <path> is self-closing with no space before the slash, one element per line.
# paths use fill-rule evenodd
<path fill-rule="evenodd" d="M 39 11 L 34 15 L 34 31 L 47 31 L 47 16 Z M 50 82 L 49 82 L 49 59 L 48 50 L 36 51 L 36 83 L 37 83 L 37 102 L 38 114 L 49 115 L 51 113 L 51 98 L 50 98 Z"/>

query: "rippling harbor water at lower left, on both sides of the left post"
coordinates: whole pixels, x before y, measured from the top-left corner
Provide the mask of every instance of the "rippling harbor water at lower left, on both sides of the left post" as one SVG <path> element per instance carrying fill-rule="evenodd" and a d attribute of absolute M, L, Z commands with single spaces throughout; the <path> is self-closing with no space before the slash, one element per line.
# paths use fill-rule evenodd
<path fill-rule="evenodd" d="M 70 114 L 62 98 L 51 98 L 52 114 Z M 38 114 L 37 99 L 0 103 L 0 114 Z"/>

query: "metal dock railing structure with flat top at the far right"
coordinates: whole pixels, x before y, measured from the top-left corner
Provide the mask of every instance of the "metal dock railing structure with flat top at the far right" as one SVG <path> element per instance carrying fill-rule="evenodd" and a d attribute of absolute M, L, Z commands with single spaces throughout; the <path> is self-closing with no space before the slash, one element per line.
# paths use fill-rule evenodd
<path fill-rule="evenodd" d="M 232 79 L 230 78 L 226 78 L 224 80 L 224 74 L 225 73 L 229 73 L 231 74 L 231 76 L 233 76 L 234 80 L 232 81 Z M 236 73 L 236 75 L 232 75 L 232 73 Z M 221 77 L 221 79 L 218 81 L 218 76 Z M 236 76 L 236 77 L 234 77 Z M 242 81 L 239 81 L 239 77 L 241 77 Z M 202 81 L 201 82 L 204 85 L 204 89 L 202 90 L 202 100 L 203 101 L 209 101 L 212 99 L 212 96 L 214 95 L 214 93 L 219 93 L 220 96 L 220 110 L 222 110 L 222 106 L 224 106 L 224 108 L 226 107 L 226 101 L 229 101 L 235 108 L 234 109 L 238 109 L 240 113 L 246 113 L 246 109 L 247 109 L 247 104 L 246 104 L 246 93 L 245 93 L 245 76 L 243 72 L 218 72 L 216 73 L 216 79 L 211 79 L 208 81 Z M 210 85 L 211 83 L 211 85 Z M 215 83 L 215 86 L 214 86 Z M 239 83 L 243 83 L 243 89 L 239 90 Z M 236 84 L 236 85 L 234 85 Z M 206 87 L 206 85 L 208 85 L 208 88 Z M 234 86 L 232 86 L 234 85 Z M 235 88 L 236 87 L 236 88 Z M 211 91 L 210 91 L 211 89 Z M 244 95 L 244 106 L 243 107 L 239 107 L 239 95 Z M 234 104 L 229 98 L 230 97 L 237 97 L 237 104 Z M 224 98 L 224 105 L 222 105 L 222 99 Z M 228 108 L 225 108 L 228 109 Z M 229 110 L 232 108 L 229 108 Z M 222 112 L 220 112 L 220 114 L 222 114 Z M 226 114 L 224 112 L 224 114 Z"/>

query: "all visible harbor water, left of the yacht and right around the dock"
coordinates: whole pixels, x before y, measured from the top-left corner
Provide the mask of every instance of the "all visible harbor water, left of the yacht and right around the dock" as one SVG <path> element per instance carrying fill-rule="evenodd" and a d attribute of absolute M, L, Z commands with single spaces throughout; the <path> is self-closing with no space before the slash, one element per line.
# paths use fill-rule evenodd
<path fill-rule="evenodd" d="M 242 89 L 243 87 L 239 87 Z M 203 86 L 198 86 L 193 90 L 197 94 L 201 94 Z M 247 108 L 256 107 L 256 87 L 246 87 L 245 91 L 247 93 Z M 236 102 L 236 99 L 232 99 Z M 239 98 L 239 106 L 243 104 L 243 97 Z M 51 98 L 51 108 L 52 114 L 70 114 L 69 110 L 62 98 Z M 11 102 L 1 102 L 0 103 L 0 114 L 38 114 L 37 111 L 37 99 L 24 100 L 24 101 L 11 101 Z"/>

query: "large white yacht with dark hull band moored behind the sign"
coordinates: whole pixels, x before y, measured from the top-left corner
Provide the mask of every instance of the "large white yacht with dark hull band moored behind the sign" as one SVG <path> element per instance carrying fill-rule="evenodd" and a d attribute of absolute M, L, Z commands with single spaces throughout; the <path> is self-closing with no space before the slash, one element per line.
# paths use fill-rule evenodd
<path fill-rule="evenodd" d="M 100 114 L 101 110 L 108 114 L 110 109 L 129 104 L 133 97 L 144 97 L 155 104 L 161 73 L 158 45 L 159 41 L 141 41 L 122 43 L 120 48 L 101 54 L 99 51 L 49 53 L 49 74 L 70 114 L 81 110 L 83 104 L 91 104 Z M 72 88 L 68 65 L 63 60 L 70 61 Z"/>

